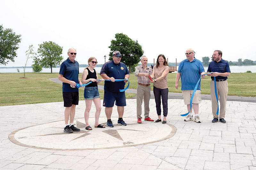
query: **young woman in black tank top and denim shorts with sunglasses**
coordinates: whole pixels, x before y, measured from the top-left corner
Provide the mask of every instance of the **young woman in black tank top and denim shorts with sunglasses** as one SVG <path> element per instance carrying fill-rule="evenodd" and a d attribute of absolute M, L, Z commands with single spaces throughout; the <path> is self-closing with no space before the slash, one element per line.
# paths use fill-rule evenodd
<path fill-rule="evenodd" d="M 85 119 L 85 129 L 86 130 L 92 130 L 92 127 L 89 125 L 89 115 L 90 110 L 92 107 L 92 101 L 96 107 L 95 112 L 95 128 L 105 128 L 105 126 L 99 124 L 99 117 L 100 117 L 100 94 L 98 90 L 98 84 L 101 81 L 104 81 L 103 78 L 100 80 L 98 79 L 98 73 L 94 69 L 97 64 L 97 59 L 95 57 L 90 57 L 88 59 L 89 66 L 84 69 L 83 75 L 82 75 L 82 83 L 87 84 L 92 81 L 89 85 L 84 87 L 84 99 L 85 99 L 85 111 L 84 111 L 84 119 Z"/>

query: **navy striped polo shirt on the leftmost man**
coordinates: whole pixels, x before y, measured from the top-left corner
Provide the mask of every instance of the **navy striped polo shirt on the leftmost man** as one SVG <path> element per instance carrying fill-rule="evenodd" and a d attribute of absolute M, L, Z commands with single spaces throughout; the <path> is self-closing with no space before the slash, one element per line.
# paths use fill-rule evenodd
<path fill-rule="evenodd" d="M 74 63 L 69 59 L 65 60 L 60 65 L 60 72 L 64 78 L 78 83 L 79 64 L 76 60 Z M 78 88 L 70 87 L 68 83 L 62 83 L 62 92 L 78 92 Z"/>

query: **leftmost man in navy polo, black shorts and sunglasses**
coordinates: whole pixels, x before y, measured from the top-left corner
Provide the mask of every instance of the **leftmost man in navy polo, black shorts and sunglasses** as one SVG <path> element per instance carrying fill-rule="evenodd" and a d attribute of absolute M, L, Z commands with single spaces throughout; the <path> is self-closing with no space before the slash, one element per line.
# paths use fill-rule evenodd
<path fill-rule="evenodd" d="M 78 132 L 80 129 L 76 128 L 74 125 L 74 117 L 76 105 L 79 101 L 79 92 L 76 88 L 76 83 L 82 85 L 82 82 L 78 78 L 79 74 L 79 64 L 75 61 L 76 50 L 75 48 L 68 49 L 68 59 L 65 60 L 60 65 L 59 80 L 62 81 L 62 95 L 64 100 L 64 116 L 65 116 L 65 128 L 64 132 L 73 133 L 73 131 Z M 69 124 L 68 124 L 68 119 Z"/>

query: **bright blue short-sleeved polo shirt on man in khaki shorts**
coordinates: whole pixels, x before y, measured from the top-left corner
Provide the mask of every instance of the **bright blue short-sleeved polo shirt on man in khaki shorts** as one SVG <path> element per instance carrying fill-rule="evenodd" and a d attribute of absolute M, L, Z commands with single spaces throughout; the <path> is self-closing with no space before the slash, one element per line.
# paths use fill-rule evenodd
<path fill-rule="evenodd" d="M 178 72 L 181 76 L 181 90 L 194 90 L 196 83 L 204 72 L 203 63 L 196 58 L 189 62 L 188 59 L 180 62 Z M 201 90 L 201 79 L 196 90 Z"/>

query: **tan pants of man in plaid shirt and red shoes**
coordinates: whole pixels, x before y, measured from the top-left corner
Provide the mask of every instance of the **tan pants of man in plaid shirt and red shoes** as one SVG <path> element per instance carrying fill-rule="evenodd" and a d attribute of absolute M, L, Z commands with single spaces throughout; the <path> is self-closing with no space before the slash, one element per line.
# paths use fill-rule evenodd
<path fill-rule="evenodd" d="M 141 117 L 141 104 L 142 104 L 143 96 L 144 96 L 144 116 L 145 116 L 145 118 L 148 118 L 150 85 L 149 86 L 143 86 L 143 85 L 137 86 L 137 118 L 138 119 L 142 118 Z"/>

